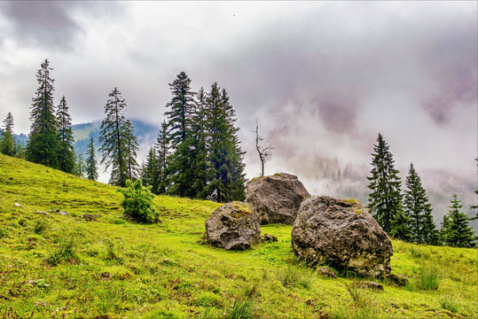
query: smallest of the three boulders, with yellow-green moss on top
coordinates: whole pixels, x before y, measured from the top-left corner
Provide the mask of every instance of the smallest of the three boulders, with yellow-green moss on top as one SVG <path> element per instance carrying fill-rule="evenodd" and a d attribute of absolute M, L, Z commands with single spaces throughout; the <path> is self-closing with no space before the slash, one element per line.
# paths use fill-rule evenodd
<path fill-rule="evenodd" d="M 208 243 L 226 250 L 245 250 L 261 242 L 259 215 L 245 202 L 231 202 L 206 221 Z"/>

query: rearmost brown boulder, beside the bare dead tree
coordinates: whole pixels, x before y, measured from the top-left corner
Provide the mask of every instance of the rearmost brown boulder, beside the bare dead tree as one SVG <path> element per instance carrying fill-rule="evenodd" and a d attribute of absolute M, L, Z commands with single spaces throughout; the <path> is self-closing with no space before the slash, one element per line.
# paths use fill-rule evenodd
<path fill-rule="evenodd" d="M 255 178 L 247 183 L 246 201 L 255 206 L 261 224 L 292 225 L 302 200 L 309 197 L 309 191 L 297 176 L 286 173 Z"/>

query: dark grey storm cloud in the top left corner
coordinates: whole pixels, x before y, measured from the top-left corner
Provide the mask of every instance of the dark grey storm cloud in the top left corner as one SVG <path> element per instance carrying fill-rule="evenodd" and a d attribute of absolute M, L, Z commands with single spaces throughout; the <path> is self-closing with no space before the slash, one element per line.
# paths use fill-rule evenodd
<path fill-rule="evenodd" d="M 114 12 L 117 4 L 106 6 L 93 2 L 7 1 L 0 4 L 0 13 L 9 22 L 10 30 L 3 37 L 14 38 L 21 46 L 35 46 L 60 51 L 73 50 L 79 35 L 85 35 L 74 19 L 78 10 L 98 16 Z"/>

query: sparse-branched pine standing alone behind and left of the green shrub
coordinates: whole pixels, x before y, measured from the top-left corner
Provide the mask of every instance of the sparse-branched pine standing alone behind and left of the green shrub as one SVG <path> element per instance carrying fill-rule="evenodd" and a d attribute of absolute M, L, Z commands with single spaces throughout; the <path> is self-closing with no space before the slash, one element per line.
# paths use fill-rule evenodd
<path fill-rule="evenodd" d="M 129 179 L 130 161 L 129 133 L 125 131 L 126 103 L 117 88 L 114 88 L 108 97 L 110 98 L 105 105 L 106 118 L 101 122 L 99 136 L 101 164 L 106 165 L 106 170 L 112 167 L 110 183 L 124 187 Z"/>

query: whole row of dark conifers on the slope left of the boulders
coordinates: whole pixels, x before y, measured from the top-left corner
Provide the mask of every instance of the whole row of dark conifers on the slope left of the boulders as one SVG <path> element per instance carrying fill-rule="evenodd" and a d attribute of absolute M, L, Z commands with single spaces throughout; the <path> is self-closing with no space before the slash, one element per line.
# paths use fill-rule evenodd
<path fill-rule="evenodd" d="M 67 99 L 54 105 L 54 80 L 50 62 L 36 73 L 39 84 L 32 98 L 30 132 L 21 157 L 90 180 L 98 179 L 97 154 L 93 138 L 86 152 L 74 152 L 72 119 Z M 105 119 L 99 136 L 100 163 L 111 170 L 109 183 L 124 187 L 128 180 L 143 179 L 156 194 L 211 199 L 218 202 L 245 198 L 243 156 L 235 112 L 228 93 L 217 83 L 206 92 L 192 91 L 184 72 L 169 83 L 172 98 L 166 105 L 165 120 L 145 163 L 137 164 L 137 136 L 126 116 L 126 100 L 114 88 L 105 105 Z M 0 140 L 0 152 L 13 156 L 13 117 L 8 113 Z"/>

